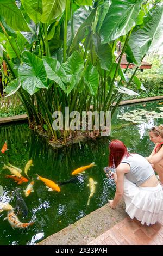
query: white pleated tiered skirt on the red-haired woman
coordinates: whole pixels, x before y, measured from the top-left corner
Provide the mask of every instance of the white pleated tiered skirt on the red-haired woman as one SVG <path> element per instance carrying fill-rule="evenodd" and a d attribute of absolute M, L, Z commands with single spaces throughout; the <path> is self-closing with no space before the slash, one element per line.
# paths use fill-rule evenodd
<path fill-rule="evenodd" d="M 163 221 L 163 190 L 156 187 L 139 187 L 124 176 L 124 201 L 130 218 L 136 218 L 141 224 L 155 224 Z"/>

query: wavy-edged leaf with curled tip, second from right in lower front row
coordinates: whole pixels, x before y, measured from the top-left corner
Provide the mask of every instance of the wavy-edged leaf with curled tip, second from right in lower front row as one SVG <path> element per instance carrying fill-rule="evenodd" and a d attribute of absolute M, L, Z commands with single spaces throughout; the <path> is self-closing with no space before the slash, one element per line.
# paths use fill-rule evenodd
<path fill-rule="evenodd" d="M 72 55 L 67 59 L 67 62 L 63 63 L 61 66 L 64 68 L 67 76 L 70 78 L 70 86 L 67 88 L 68 95 L 82 78 L 84 62 L 79 52 L 74 51 Z"/>

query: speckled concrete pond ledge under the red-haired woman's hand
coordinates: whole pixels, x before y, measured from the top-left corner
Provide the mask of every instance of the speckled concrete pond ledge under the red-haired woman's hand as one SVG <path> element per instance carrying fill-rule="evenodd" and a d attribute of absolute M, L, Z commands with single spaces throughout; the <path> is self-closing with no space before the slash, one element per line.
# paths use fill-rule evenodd
<path fill-rule="evenodd" d="M 111 209 L 108 203 L 74 224 L 48 236 L 37 245 L 87 245 L 126 217 L 123 201 L 115 210 Z"/>

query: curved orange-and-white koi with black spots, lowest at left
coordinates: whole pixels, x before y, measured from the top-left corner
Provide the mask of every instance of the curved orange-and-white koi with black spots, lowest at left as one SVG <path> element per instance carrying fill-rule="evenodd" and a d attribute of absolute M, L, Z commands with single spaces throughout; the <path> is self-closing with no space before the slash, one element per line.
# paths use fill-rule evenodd
<path fill-rule="evenodd" d="M 18 220 L 18 217 L 16 216 L 16 214 L 14 213 L 13 210 L 8 211 L 8 215 L 7 215 L 6 218 L 4 218 L 4 220 L 8 220 L 8 222 L 10 223 L 10 225 L 13 229 L 15 229 L 15 228 L 27 228 L 30 225 L 34 224 L 34 222 L 22 223 L 20 220 Z"/>

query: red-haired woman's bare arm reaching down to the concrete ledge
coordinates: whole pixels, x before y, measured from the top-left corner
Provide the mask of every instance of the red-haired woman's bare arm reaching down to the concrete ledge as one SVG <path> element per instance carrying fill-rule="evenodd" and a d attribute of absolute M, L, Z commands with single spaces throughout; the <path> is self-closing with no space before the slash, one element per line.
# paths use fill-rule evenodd
<path fill-rule="evenodd" d="M 120 202 L 123 196 L 124 173 L 128 173 L 129 171 L 130 171 L 130 166 L 127 163 L 121 163 L 116 168 L 117 187 L 116 187 L 115 197 L 112 201 L 110 201 L 110 204 L 109 204 L 109 206 L 113 209 L 116 208 L 117 204 Z"/>

